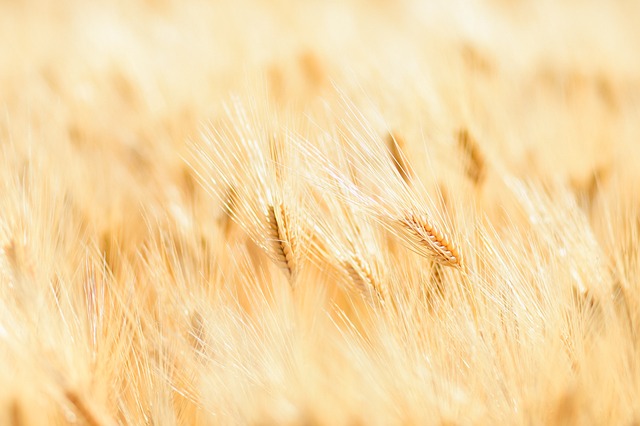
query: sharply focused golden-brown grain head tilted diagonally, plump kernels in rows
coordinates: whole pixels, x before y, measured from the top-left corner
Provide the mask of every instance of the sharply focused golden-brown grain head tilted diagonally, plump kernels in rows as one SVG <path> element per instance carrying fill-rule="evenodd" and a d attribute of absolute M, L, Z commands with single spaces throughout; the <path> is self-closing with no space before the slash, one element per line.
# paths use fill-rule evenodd
<path fill-rule="evenodd" d="M 461 267 L 462 257 L 456 245 L 426 215 L 408 213 L 399 223 L 417 246 L 417 252 L 447 266 Z"/>

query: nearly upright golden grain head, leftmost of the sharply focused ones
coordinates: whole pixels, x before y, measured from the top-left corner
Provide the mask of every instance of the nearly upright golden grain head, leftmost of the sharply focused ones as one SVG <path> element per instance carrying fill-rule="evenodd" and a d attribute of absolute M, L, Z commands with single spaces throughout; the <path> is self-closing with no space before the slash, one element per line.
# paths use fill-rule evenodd
<path fill-rule="evenodd" d="M 289 278 L 295 272 L 295 238 L 291 233 L 289 215 L 282 203 L 269 205 L 267 209 L 269 247 L 274 261 Z"/>

